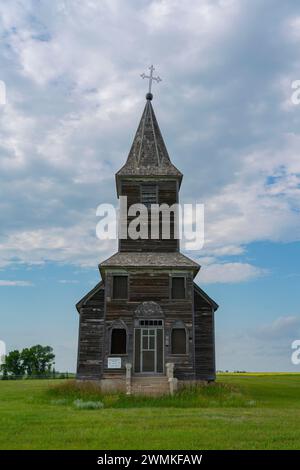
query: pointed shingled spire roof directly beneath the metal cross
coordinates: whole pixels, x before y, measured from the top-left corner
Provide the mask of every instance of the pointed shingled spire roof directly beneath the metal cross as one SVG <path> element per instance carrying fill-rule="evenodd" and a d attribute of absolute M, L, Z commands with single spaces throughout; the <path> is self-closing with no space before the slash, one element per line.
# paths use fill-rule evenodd
<path fill-rule="evenodd" d="M 181 182 L 182 173 L 170 160 L 150 99 L 147 99 L 127 161 L 116 173 L 117 187 L 121 176 L 167 176 Z"/>

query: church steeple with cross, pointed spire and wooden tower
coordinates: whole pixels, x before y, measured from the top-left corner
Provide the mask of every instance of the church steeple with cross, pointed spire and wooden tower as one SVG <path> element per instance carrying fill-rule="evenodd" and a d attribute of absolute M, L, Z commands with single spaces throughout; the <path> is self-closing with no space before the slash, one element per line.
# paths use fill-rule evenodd
<path fill-rule="evenodd" d="M 149 88 L 146 105 L 138 125 L 125 165 L 116 173 L 118 197 L 126 197 L 127 207 L 143 204 L 148 209 L 152 204 L 160 207 L 175 207 L 178 203 L 182 173 L 170 160 L 152 107 L 151 83 L 159 81 L 153 77 L 154 67 L 150 67 Z M 124 200 L 123 200 L 124 201 Z M 169 236 L 163 236 L 162 217 L 159 217 L 158 236 L 120 237 L 120 252 L 178 252 L 179 238 L 175 227 L 175 210 L 167 221 Z M 177 214 L 177 212 L 176 212 Z M 153 215 L 155 219 L 155 216 Z M 132 216 L 126 218 L 126 233 Z M 148 232 L 151 232 L 152 213 L 148 220 Z M 157 223 L 157 222 L 154 222 Z M 124 226 L 125 230 L 125 226 Z"/>

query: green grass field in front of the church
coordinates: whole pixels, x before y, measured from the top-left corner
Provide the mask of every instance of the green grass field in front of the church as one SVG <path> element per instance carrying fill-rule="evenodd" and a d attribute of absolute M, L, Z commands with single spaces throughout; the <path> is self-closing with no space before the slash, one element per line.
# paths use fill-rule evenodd
<path fill-rule="evenodd" d="M 157 399 L 0 381 L 0 425 L 0 449 L 300 449 L 300 374 L 221 374 L 217 386 Z"/>

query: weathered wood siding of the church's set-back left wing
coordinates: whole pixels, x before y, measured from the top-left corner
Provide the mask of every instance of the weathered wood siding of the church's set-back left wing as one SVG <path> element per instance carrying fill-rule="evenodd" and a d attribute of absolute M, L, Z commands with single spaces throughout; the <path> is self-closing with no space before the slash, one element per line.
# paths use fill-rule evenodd
<path fill-rule="evenodd" d="M 103 372 L 104 288 L 80 309 L 77 378 L 97 380 Z"/>

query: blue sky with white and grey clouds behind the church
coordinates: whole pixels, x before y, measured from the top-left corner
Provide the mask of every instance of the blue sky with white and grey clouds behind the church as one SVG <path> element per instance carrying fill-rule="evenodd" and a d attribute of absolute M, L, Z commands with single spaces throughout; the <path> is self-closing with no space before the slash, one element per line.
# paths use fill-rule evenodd
<path fill-rule="evenodd" d="M 96 207 L 116 204 L 114 173 L 145 103 L 140 74 L 154 63 L 182 201 L 205 204 L 204 248 L 187 255 L 220 304 L 217 367 L 299 371 L 299 2 L 10 0 L 0 32 L 8 350 L 50 344 L 57 368 L 74 370 L 74 304 L 116 250 L 95 236 Z"/>

